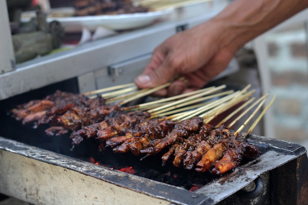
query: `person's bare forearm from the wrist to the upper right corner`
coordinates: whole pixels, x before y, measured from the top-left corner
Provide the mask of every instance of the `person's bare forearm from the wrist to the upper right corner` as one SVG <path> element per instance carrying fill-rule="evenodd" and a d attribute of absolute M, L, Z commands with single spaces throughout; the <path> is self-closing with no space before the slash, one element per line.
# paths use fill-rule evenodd
<path fill-rule="evenodd" d="M 308 7 L 308 0 L 235 0 L 211 20 L 224 29 L 221 47 L 246 42 Z"/>

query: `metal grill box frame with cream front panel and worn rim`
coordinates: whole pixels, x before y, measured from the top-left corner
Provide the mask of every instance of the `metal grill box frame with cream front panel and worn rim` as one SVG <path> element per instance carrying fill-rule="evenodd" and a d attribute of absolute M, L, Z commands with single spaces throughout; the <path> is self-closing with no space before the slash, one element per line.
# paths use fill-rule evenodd
<path fill-rule="evenodd" d="M 283 191 L 288 193 L 287 196 L 294 196 L 285 199 L 290 204 L 300 205 L 300 202 L 308 201 L 303 194 L 308 184 L 307 170 L 304 169 L 307 166 L 305 147 L 256 135 L 247 141 L 266 152 L 237 167 L 234 172 L 190 192 L 0 137 L 0 193 L 37 205 L 66 205 L 69 202 L 63 200 L 62 193 L 75 205 L 130 204 L 131 200 L 131 204 L 223 205 L 230 203 L 239 190 L 259 176 L 270 173 L 272 200 L 281 201 L 279 195 Z M 276 176 L 273 177 L 272 173 Z M 279 176 L 283 175 L 288 178 L 281 180 Z M 85 186 L 78 186 L 82 184 L 80 180 Z M 292 183 L 287 186 L 290 180 Z M 67 185 L 63 186 L 65 183 Z M 246 199 L 242 201 L 247 202 Z"/>

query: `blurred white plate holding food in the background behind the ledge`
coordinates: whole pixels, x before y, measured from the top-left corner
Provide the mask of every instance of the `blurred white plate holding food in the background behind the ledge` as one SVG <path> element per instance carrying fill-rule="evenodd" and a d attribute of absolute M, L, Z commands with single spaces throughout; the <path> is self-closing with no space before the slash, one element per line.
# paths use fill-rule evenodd
<path fill-rule="evenodd" d="M 147 13 L 101 15 L 101 16 L 77 16 L 64 18 L 47 18 L 48 22 L 59 21 L 66 32 L 79 32 L 85 27 L 94 31 L 98 27 L 111 30 L 137 29 L 154 23 L 157 19 L 167 17 L 173 9 L 154 11 Z"/>

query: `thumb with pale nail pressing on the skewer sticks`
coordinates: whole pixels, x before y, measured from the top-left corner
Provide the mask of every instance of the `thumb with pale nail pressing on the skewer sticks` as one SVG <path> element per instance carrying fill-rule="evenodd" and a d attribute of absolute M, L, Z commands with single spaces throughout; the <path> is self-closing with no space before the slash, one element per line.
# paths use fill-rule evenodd
<path fill-rule="evenodd" d="M 135 79 L 135 84 L 139 88 L 154 88 L 167 83 L 175 76 L 175 72 L 172 69 L 168 69 L 167 66 L 161 64 L 156 69 L 142 74 Z"/>

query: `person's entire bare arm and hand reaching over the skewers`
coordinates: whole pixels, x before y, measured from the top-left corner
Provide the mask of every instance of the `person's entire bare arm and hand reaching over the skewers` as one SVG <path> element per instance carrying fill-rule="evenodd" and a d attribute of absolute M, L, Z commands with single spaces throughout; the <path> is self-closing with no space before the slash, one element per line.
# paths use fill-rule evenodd
<path fill-rule="evenodd" d="M 224 70 L 245 43 L 305 8 L 307 0 L 232 1 L 210 21 L 159 45 L 135 83 L 140 88 L 154 88 L 179 74 L 185 76 L 187 84 L 175 81 L 156 94 L 177 95 L 199 89 Z"/>

